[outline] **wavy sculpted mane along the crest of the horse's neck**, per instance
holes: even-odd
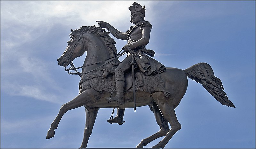
[[[95,35],[98,35],[101,37],[101,39],[107,44],[108,46],[108,52],[110,57],[116,56],[117,55],[117,50],[116,50],[116,42],[113,38],[111,38],[109,36],[109,32],[105,32],[105,29],[102,29],[100,27],[95,27],[91,26],[82,26],[80,27],[78,30],[74,30],[73,32],[75,32],[76,34],[80,34],[80,33],[92,33]],[[72,33],[70,34],[72,35]]]

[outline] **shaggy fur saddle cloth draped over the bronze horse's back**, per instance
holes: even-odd
[[[116,92],[114,70],[120,64],[118,59],[114,59],[102,67],[84,75],[79,82],[79,94],[86,89],[94,89],[96,91]],[[103,77],[103,74],[107,76]],[[132,71],[124,74],[125,87],[124,93],[132,92]],[[135,90],[154,92],[164,91],[164,82],[159,74],[145,75],[140,69],[135,69]]]

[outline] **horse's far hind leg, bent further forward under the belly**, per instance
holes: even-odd
[[[169,125],[168,122],[164,119],[163,115],[161,114],[158,106],[156,104],[153,104],[152,106],[149,106],[150,110],[154,113],[156,122],[160,127],[160,130],[155,133],[154,135],[147,137],[143,139],[139,145],[136,146],[136,148],[143,148],[143,146],[148,145],[151,141],[156,140],[159,137],[165,136],[169,132]]]

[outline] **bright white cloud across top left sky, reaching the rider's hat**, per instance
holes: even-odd
[[[95,19],[122,22],[130,17],[128,7],[132,3],[133,1],[21,1],[14,4],[5,1],[1,2],[1,21],[16,22],[32,28],[63,22],[68,25],[89,22],[96,24]],[[1,27],[8,27],[8,24],[1,23]]]

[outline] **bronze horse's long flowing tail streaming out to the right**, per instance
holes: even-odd
[[[222,83],[219,78],[214,76],[212,67],[207,63],[198,63],[184,70],[188,78],[195,80],[222,105],[234,107],[234,104],[228,100],[227,94],[223,91]]]

